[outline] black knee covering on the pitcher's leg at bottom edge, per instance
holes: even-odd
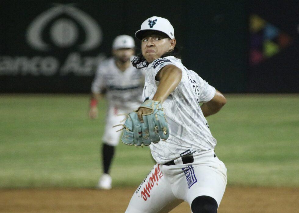
[[[193,213],[217,213],[218,204],[213,197],[198,196],[191,204]]]

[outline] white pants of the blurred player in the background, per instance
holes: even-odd
[[[121,120],[125,118],[125,116],[117,116],[118,114],[129,113],[131,110],[128,109],[119,109],[116,106],[109,106],[107,117],[106,117],[106,126],[105,132],[103,135],[103,143],[116,146],[120,140],[120,136],[122,131],[116,132],[117,130],[121,129],[122,127],[114,127],[114,125],[121,124]],[[124,123],[124,122],[122,122]]]

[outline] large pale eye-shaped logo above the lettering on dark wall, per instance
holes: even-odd
[[[54,20],[61,15],[67,15],[70,18],[61,17]],[[52,49],[51,44],[45,42],[43,38],[43,32],[49,24],[51,24],[49,37],[53,44],[59,48],[67,48],[76,44],[79,36],[78,24],[85,31],[85,40],[78,45],[78,50],[88,51],[95,49],[101,44],[103,38],[99,25],[87,13],[72,5],[57,5],[42,12],[29,25],[26,39],[32,48],[38,51],[49,51]]]

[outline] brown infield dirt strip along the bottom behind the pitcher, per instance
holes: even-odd
[[[0,212],[124,212],[135,188],[2,189]],[[228,187],[218,212],[296,212],[299,188]],[[171,211],[191,212],[183,202]]]

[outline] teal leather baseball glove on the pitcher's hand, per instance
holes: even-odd
[[[127,115],[123,126],[123,135],[121,141],[126,145],[150,145],[151,142],[158,143],[160,139],[166,140],[169,137],[169,127],[162,105],[158,101],[146,100],[139,108],[144,107],[151,109],[150,113],[142,115],[143,123],[137,116],[137,111]],[[119,126],[116,125],[116,126]]]

